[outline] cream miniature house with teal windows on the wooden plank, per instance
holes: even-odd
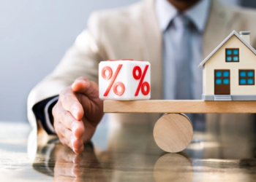
[[[203,100],[256,100],[256,51],[248,31],[233,31],[200,63]]]

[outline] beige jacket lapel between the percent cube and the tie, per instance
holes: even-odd
[[[151,99],[162,99],[162,32],[157,22],[154,0],[143,1],[143,59],[151,63]]]

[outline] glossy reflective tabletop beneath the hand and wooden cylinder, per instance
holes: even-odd
[[[256,180],[252,127],[195,132],[185,151],[167,154],[154,143],[152,126],[102,122],[76,155],[58,138],[37,137],[29,124],[0,122],[0,181]]]

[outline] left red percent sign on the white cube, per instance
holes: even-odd
[[[116,80],[116,76],[118,76],[118,73],[119,73],[119,71],[121,70],[121,67],[122,67],[122,66],[123,66],[123,65],[118,65],[118,67],[116,68],[116,72],[115,72],[115,74],[113,75],[113,77],[112,77],[113,71],[112,71],[112,69],[111,69],[109,66],[105,66],[104,68],[102,68],[102,78],[103,78],[103,79],[108,80],[108,79],[111,79],[111,77],[112,77],[112,79],[111,79],[111,81],[110,81],[110,84],[108,85],[108,88],[107,88],[107,90],[106,90],[105,93],[104,93],[104,97],[108,96],[108,93],[110,92],[110,89],[111,89],[112,86],[113,86],[113,91],[114,91],[114,93],[115,93],[116,95],[121,96],[121,95],[124,94],[125,87],[124,87],[124,84],[123,84],[122,82],[116,82],[116,83],[113,85],[113,83],[114,83],[115,80]],[[106,74],[106,71],[108,71],[108,74]],[[117,90],[118,87],[120,87],[121,90]]]

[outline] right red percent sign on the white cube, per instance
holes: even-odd
[[[137,71],[138,71],[138,74],[136,73]],[[133,78],[135,78],[137,80],[140,79],[137,90],[135,92],[135,96],[138,96],[140,89],[141,89],[141,92],[143,93],[143,95],[148,95],[148,93],[150,91],[150,86],[149,86],[148,82],[143,82],[147,71],[148,71],[148,65],[145,66],[145,69],[144,69],[142,75],[141,75],[140,66],[135,66],[133,68],[133,71],[132,71]],[[146,87],[146,90],[145,90],[145,87]]]

